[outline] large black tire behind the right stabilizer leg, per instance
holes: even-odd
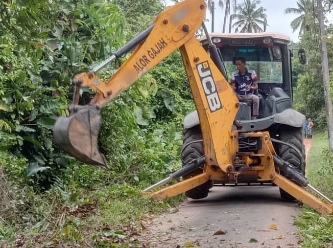
[[[283,144],[280,144],[278,147],[278,155],[281,157],[282,160],[290,163],[293,168],[300,174],[305,175],[305,147],[303,144],[302,128],[290,127],[289,129],[283,129],[280,131],[279,136],[280,141],[295,146],[302,153],[302,157],[300,157],[299,153],[295,151],[295,149]],[[282,172],[281,175],[293,181],[293,178],[283,174]],[[281,188],[280,196],[284,200],[296,200],[294,196],[290,195]]]

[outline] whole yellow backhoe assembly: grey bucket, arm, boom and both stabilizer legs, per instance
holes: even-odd
[[[229,177],[236,182],[242,173],[253,172],[258,181],[271,181],[317,211],[332,213],[332,201],[308,184],[306,178],[288,162],[276,155],[268,131],[245,132],[241,130],[240,123],[234,122],[240,103],[223,76],[221,64],[210,58],[195,37],[205,12],[204,0],[184,0],[161,12],[149,28],[90,72],[76,75],[73,79],[75,92],[73,104],[69,106],[70,115],[59,117],[56,121],[55,142],[86,164],[107,167],[105,157],[98,149],[101,108],[179,49],[200,119],[204,155],[144,192],[160,200],[191,190],[209,179]],[[98,77],[96,73],[102,67],[132,49],[134,51],[126,62],[106,82]],[[218,57],[217,54],[213,55],[215,56],[212,57]],[[87,105],[79,105],[79,89],[82,86],[88,86],[96,92]],[[232,130],[233,124],[239,130]],[[258,141],[256,152],[240,151],[240,142],[245,139]],[[203,168],[201,174],[152,191],[199,167]],[[283,177],[280,171],[291,175],[294,182]],[[305,191],[305,188],[314,191],[326,202]]]

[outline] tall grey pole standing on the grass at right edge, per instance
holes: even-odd
[[[317,0],[318,6],[318,21],[319,21],[319,36],[320,36],[320,52],[321,52],[321,64],[323,70],[323,84],[325,94],[325,107],[326,107],[326,121],[327,121],[327,135],[328,135],[328,147],[330,151],[333,151],[333,106],[332,101],[328,94],[329,88],[329,69],[327,58],[327,46],[324,36],[326,34],[324,28],[324,13],[321,0]]]

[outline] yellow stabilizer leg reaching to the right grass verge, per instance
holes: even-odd
[[[300,200],[304,204],[310,206],[321,214],[331,214],[333,213],[333,204],[326,203],[319,198],[315,197],[311,193],[307,192],[303,188],[289,181],[286,177],[275,173],[273,182],[282,188],[284,191],[288,192],[296,199]]]

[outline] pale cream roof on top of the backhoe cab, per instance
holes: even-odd
[[[272,38],[279,39],[286,43],[291,42],[291,39],[288,35],[282,33],[270,33],[270,32],[261,32],[261,33],[211,33],[209,36],[219,37],[219,38],[240,38],[240,39],[249,39],[249,38]],[[199,38],[200,41],[205,40],[206,36]]]

